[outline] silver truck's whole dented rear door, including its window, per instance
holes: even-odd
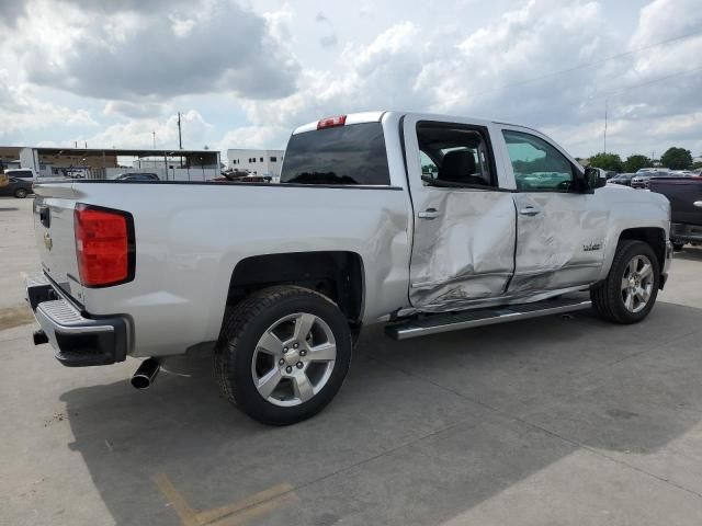
[[[408,115],[403,133],[415,222],[411,304],[445,310],[502,295],[513,272],[514,204],[500,190],[491,123]]]

